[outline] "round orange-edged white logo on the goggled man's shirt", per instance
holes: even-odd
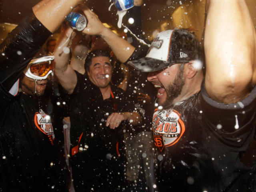
[[[51,144],[53,145],[55,135],[50,116],[47,115],[42,109],[40,109],[39,112],[36,112],[34,116],[34,122],[36,124],[36,127],[48,136]]]

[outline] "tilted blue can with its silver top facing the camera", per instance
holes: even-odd
[[[75,12],[70,12],[65,20],[70,24],[73,29],[76,29],[78,31],[84,30],[87,25],[86,17],[82,14]]]

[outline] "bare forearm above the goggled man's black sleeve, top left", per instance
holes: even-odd
[[[81,0],[44,0],[33,7],[36,18],[50,31],[54,32],[65,16]]]

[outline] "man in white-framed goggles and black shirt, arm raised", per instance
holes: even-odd
[[[0,191],[68,191],[56,127],[42,97],[54,57],[32,58],[78,3],[39,2],[0,45]]]

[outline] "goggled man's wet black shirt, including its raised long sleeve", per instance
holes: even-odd
[[[46,101],[18,91],[20,74],[50,34],[32,14],[0,45],[0,191],[66,188]]]

